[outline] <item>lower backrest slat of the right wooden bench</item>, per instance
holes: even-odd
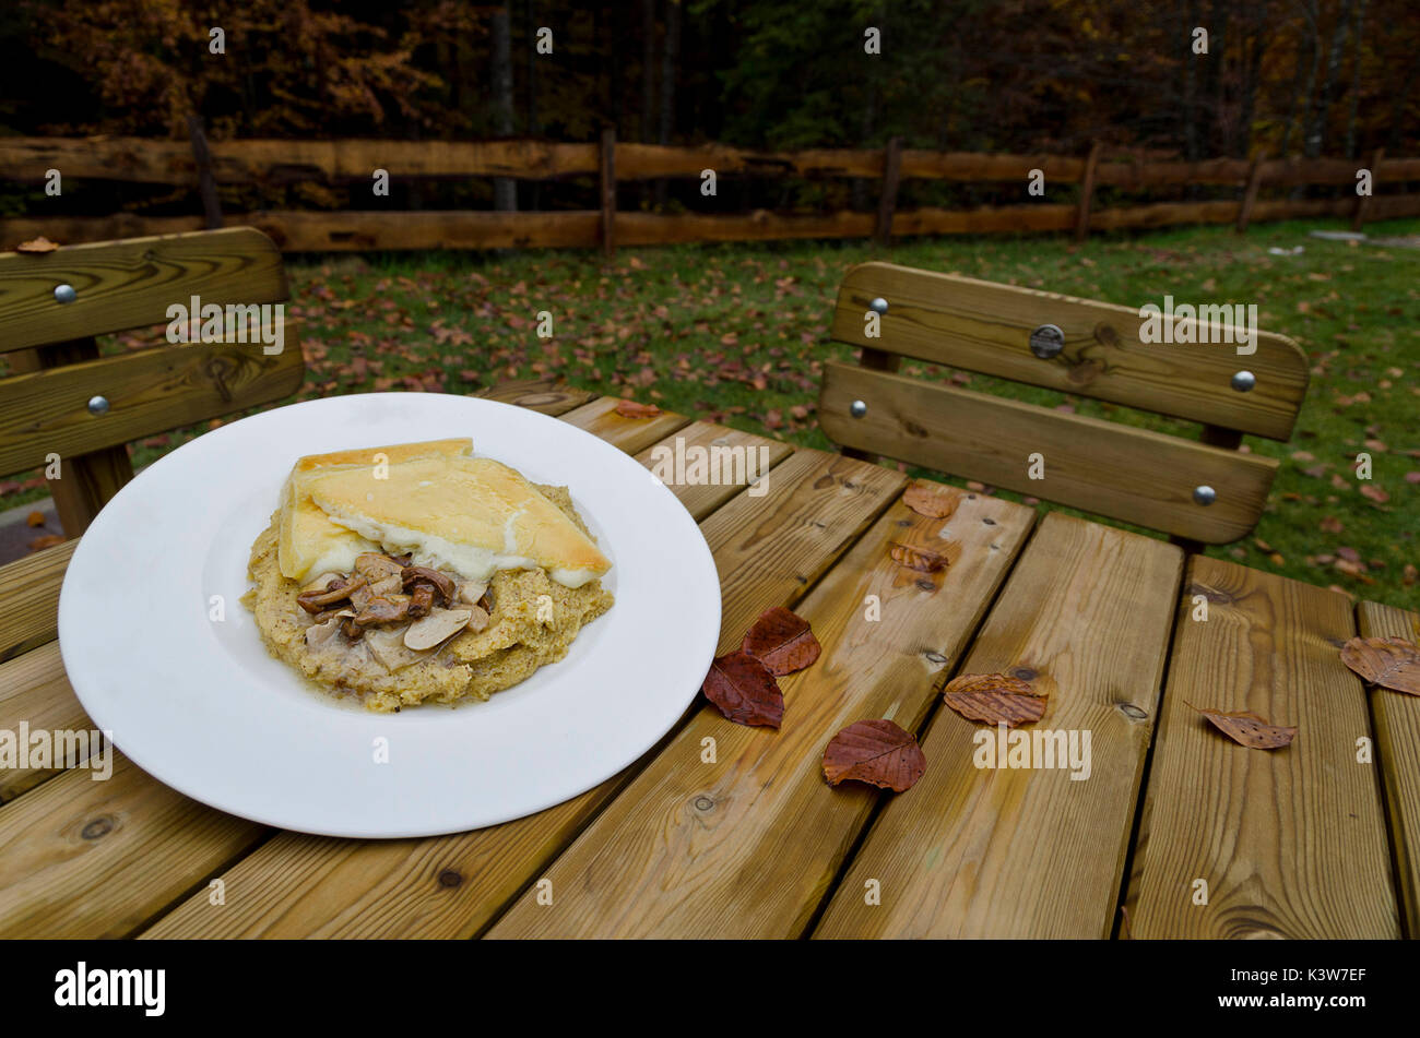
[[[852,417],[855,401],[866,404],[862,417]],[[1274,458],[838,363],[824,366],[819,425],[843,447],[1208,545],[1257,525],[1278,468]],[[1194,501],[1198,486],[1213,488],[1211,505]]]

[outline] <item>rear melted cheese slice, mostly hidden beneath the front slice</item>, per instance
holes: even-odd
[[[393,467],[413,458],[457,457],[473,454],[473,440],[430,440],[393,447],[366,447],[355,451],[311,454],[300,458],[281,488],[280,539],[277,562],[281,576],[302,580],[321,573],[349,573],[355,557],[378,552],[379,545],[354,530],[338,526],[321,510],[307,491],[307,482],[322,472],[358,472],[372,481],[379,455]]]

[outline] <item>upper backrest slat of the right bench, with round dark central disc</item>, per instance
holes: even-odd
[[[888,301],[888,312],[880,335],[869,337],[865,315],[875,298]],[[1160,295],[1140,302],[1163,306],[1164,301]],[[1238,355],[1235,343],[1143,343],[1142,323],[1139,311],[1127,306],[866,262],[843,277],[832,335],[868,349],[1240,432],[1291,437],[1309,373],[1295,342],[1257,332],[1250,355]],[[1039,325],[1064,332],[1065,347],[1049,360],[1030,349]],[[1251,391],[1231,386],[1241,370],[1255,376]]]

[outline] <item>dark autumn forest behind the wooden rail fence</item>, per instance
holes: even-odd
[[[224,54],[209,52],[213,26]],[[552,54],[537,51],[542,27]],[[868,27],[879,55],[865,52]],[[1193,52],[1197,28],[1206,55]],[[213,140],[594,140],[612,126],[650,143],[875,147],[900,136],[906,147],[1081,155],[1099,140],[1108,155],[1207,159],[1397,156],[1420,130],[1414,0],[247,0],[240,13],[16,0],[0,10],[0,68],[4,135],[186,139],[197,113]],[[589,189],[426,184],[408,201],[585,207]],[[348,204],[324,184],[283,191],[231,189],[224,201]],[[108,206],[98,194],[95,211]],[[997,200],[990,187],[919,184],[905,203]],[[129,189],[121,201],[162,211],[176,197]],[[640,204],[666,203],[662,183]],[[862,210],[876,193],[863,180],[785,177],[734,204]]]

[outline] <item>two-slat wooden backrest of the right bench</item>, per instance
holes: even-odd
[[[1173,340],[1142,342],[1145,323],[1126,306],[862,264],[843,278],[832,326],[862,359],[825,364],[819,424],[858,457],[978,479],[1183,540],[1237,540],[1257,525],[1278,462],[1235,448],[1244,432],[1291,437],[1306,356],[1255,329],[1241,345],[1255,345],[1251,353],[1238,353],[1237,342],[1198,343],[1198,320],[1163,315]],[[1218,330],[1241,337],[1231,325]],[[1184,440],[909,379],[896,373],[902,357],[1187,418],[1203,432]]]

